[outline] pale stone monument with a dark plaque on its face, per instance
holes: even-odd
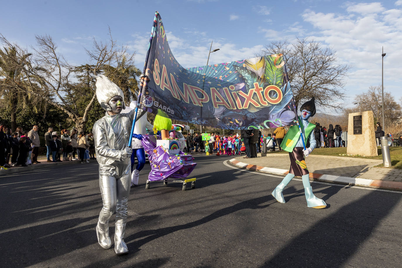
[[[377,156],[373,111],[349,114],[347,154]]]

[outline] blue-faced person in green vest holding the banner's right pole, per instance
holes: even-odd
[[[306,195],[307,206],[314,209],[323,209],[326,207],[324,200],[317,198],[313,194],[313,190],[310,186],[309,172],[307,170],[306,162],[304,158],[308,156],[314,148],[317,146],[314,139],[313,129],[316,125],[309,123],[308,119],[315,115],[316,105],[314,104],[314,97],[305,102],[300,107],[301,117],[299,117],[299,124],[302,129],[304,141],[310,137],[310,147],[304,150],[303,142],[300,137],[300,131],[298,126],[291,126],[289,131],[283,138],[281,147],[283,150],[289,152],[290,157],[290,170],[289,174],[283,178],[282,182],[273,190],[272,195],[279,203],[285,203],[283,198],[283,188],[294,178],[294,176],[301,176],[304,186],[304,194]]]

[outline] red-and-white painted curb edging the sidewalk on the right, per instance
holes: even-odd
[[[280,168],[268,168],[262,166],[256,166],[252,164],[247,164],[244,162],[240,162],[235,158],[229,160],[229,162],[242,169],[252,170],[262,173],[268,174],[280,174],[286,175],[289,173],[289,170],[284,170]],[[386,190],[399,190],[402,191],[402,182],[392,182],[388,180],[369,180],[363,178],[352,178],[352,177],[344,177],[344,176],[334,176],[328,174],[320,174],[320,173],[310,173],[309,178],[315,181],[321,182],[331,182],[336,184],[346,184],[346,185],[357,185],[357,186],[365,186],[370,188],[379,188],[379,189],[386,189]]]

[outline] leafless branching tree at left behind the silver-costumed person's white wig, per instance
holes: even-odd
[[[35,36],[36,47],[31,47],[33,55],[21,61],[21,73],[25,86],[19,86],[27,94],[33,94],[49,104],[63,110],[76,127],[82,131],[88,121],[88,112],[92,108],[96,98],[95,78],[92,75],[103,73],[116,84],[126,85],[127,97],[133,95],[131,90],[137,91],[137,80],[135,75],[139,72],[134,67],[134,55],[127,52],[127,47],[118,47],[111,36],[109,29],[109,41],[103,43],[94,39],[92,49],[86,49],[89,56],[89,64],[83,65],[81,70],[70,65],[64,56],[57,52],[57,45],[49,35]],[[0,34],[0,42],[6,46],[16,48],[19,58],[28,53],[28,49],[11,44]],[[82,67],[82,66],[80,66]],[[127,69],[131,71],[127,71]],[[134,71],[133,71],[134,70]],[[86,81],[79,79],[85,73],[88,74]],[[79,80],[77,83],[76,80]],[[129,88],[129,87],[132,88]],[[128,92],[127,92],[128,91]],[[78,105],[83,95],[90,94],[90,100]],[[129,99],[127,99],[128,101]]]

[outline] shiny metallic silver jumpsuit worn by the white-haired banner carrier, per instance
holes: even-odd
[[[130,113],[106,115],[96,121],[92,129],[95,141],[96,160],[99,163],[99,186],[103,208],[99,222],[107,224],[116,212],[116,235],[124,236],[127,221],[127,201],[131,186],[131,160],[125,148],[130,139],[130,130],[135,115]],[[120,232],[117,234],[117,232]]]

